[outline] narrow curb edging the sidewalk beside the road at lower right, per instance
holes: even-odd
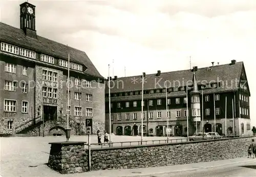
[[[183,171],[194,171],[198,169],[207,169],[207,168],[214,168],[214,167],[220,167],[220,166],[226,166],[226,165],[233,165],[233,164],[239,164],[243,162],[254,162],[255,160],[247,160],[247,161],[241,161],[241,162],[233,162],[233,163],[228,163],[228,164],[222,164],[222,165],[215,165],[215,166],[208,166],[208,167],[197,167],[197,168],[189,168],[189,169],[182,169],[182,170],[174,170],[174,171],[164,171],[164,172],[153,172],[153,173],[140,173],[140,174],[129,174],[129,175],[122,175],[119,177],[140,177],[140,176],[151,176],[155,174],[168,174],[172,172],[183,172]]]

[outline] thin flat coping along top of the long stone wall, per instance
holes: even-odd
[[[144,144],[144,145],[133,145],[133,146],[102,147],[102,148],[91,148],[91,151],[133,149],[133,148],[141,148],[141,147],[157,147],[157,146],[169,146],[169,145],[179,145],[179,144],[194,144],[194,143],[204,143],[204,142],[214,142],[214,141],[224,141],[224,140],[254,138],[254,137],[256,137],[256,136],[236,137],[236,138],[221,138],[221,139],[201,140],[201,141],[186,141],[186,142],[177,142],[177,143],[159,143],[159,144]]]

